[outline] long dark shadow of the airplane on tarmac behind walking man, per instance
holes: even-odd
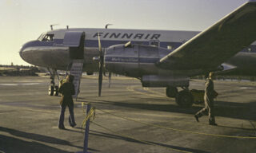
[[[164,111],[164,112],[178,112],[178,113],[186,113],[194,115],[200,109],[204,107],[204,105],[194,105],[191,108],[181,108],[177,104],[146,104],[141,101],[152,101],[152,98],[140,98],[136,100],[129,101],[108,101],[108,100],[98,100],[94,104],[112,104],[118,107],[124,108],[137,108],[144,109],[150,111]],[[158,100],[158,99],[156,99]],[[95,101],[95,100],[94,100]],[[138,103],[136,103],[138,102]],[[233,119],[240,120],[254,120],[256,121],[256,102],[250,103],[235,103],[228,101],[215,101],[214,102],[214,112],[215,116],[229,117]]]

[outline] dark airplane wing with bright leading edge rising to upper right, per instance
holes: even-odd
[[[256,0],[250,0],[163,57],[162,69],[212,69],[256,40]]]

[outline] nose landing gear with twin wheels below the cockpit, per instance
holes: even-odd
[[[58,77],[58,73],[57,73],[57,69],[52,69],[52,72],[50,71],[50,69],[48,68],[48,71],[50,72],[50,86],[48,88],[48,95],[49,96],[58,96],[58,86],[55,85],[55,76],[57,74]],[[59,77],[58,77],[59,80]]]

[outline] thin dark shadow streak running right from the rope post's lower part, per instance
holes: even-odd
[[[110,138],[110,139],[122,139],[122,140],[129,141],[129,142],[132,142],[132,143],[142,143],[142,142],[134,140],[134,139],[123,137],[121,135],[112,135],[112,134],[108,134],[108,133],[101,132],[101,131],[90,130],[90,135],[96,135],[96,136],[106,137],[106,138]],[[147,143],[154,143],[154,142],[151,142],[151,141],[146,141],[146,142]],[[147,144],[147,143],[142,143],[142,144]],[[198,149],[190,149],[190,148],[187,148],[187,147],[178,147],[178,146],[168,145],[168,144],[164,144],[164,143],[154,143],[154,144],[158,145],[158,146],[162,146],[162,147],[167,147],[167,148],[170,148],[170,149],[177,149],[177,150],[180,150],[180,151],[208,153],[208,151],[201,151],[201,150],[198,150]],[[149,145],[149,144],[147,144],[147,145]]]

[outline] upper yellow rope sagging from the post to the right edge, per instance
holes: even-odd
[[[99,111],[102,111],[102,112],[105,112],[105,113],[107,113],[107,114],[110,114],[110,115],[112,115],[112,116],[116,116],[116,117],[125,119],[125,120],[130,120],[130,121],[137,122],[137,123],[139,123],[139,124],[148,125],[148,126],[151,126],[151,127],[164,128],[164,129],[166,129],[166,130],[171,130],[171,131],[179,131],[179,132],[186,132],[186,133],[197,134],[197,135],[208,135],[208,136],[216,136],[216,137],[224,137],[224,138],[256,139],[256,136],[217,135],[217,134],[210,134],[210,133],[202,133],[202,132],[198,132],[198,131],[181,130],[181,129],[178,129],[178,128],[163,127],[163,126],[161,126],[161,125],[149,124],[149,123],[142,122],[142,121],[138,121],[138,120],[132,120],[132,119],[127,118],[127,117],[124,117],[124,116],[118,116],[118,115],[115,115],[115,114],[113,114],[113,113],[111,113],[111,112],[103,111],[102,109],[98,109],[98,110],[99,110]]]

